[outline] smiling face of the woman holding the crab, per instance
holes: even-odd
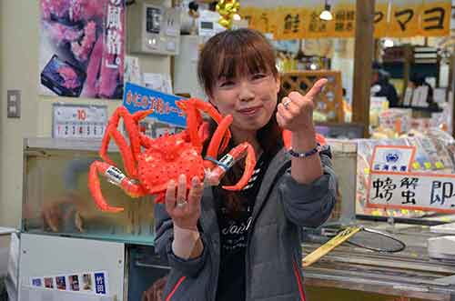
[[[231,128],[258,131],[275,111],[280,82],[272,74],[258,73],[238,78],[220,78],[210,102],[221,115],[232,115]]]

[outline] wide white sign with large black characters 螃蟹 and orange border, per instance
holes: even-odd
[[[367,206],[455,213],[455,175],[371,172]]]

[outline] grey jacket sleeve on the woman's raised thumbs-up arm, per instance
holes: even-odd
[[[337,179],[329,150],[319,154],[324,174],[310,184],[299,184],[290,168],[279,179],[278,196],[288,220],[298,226],[318,227],[330,216],[337,197]]]

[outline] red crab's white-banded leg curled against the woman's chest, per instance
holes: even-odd
[[[249,178],[253,176],[254,167],[256,166],[255,151],[253,146],[251,146],[248,142],[237,145],[226,156],[223,156],[221,160],[219,160],[218,165],[211,171],[207,172],[207,182],[210,185],[217,185],[221,177],[226,174],[227,169],[234,166],[238,160],[245,156],[245,171],[240,180],[238,180],[238,183],[233,186],[223,186],[226,190],[241,190],[248,184]]]

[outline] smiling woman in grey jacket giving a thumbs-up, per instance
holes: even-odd
[[[204,191],[195,186],[188,196],[184,179],[177,189],[167,187],[166,206],[155,207],[155,246],[172,267],[164,296],[304,300],[301,226],[325,221],[336,196],[330,153],[320,151],[312,123],[313,98],[326,81],[307,95],[291,92],[283,100],[287,105],[278,103],[274,50],[264,35],[250,29],[211,37],[200,52],[197,76],[209,102],[233,117],[227,148],[248,142],[258,161],[241,191],[223,189],[243,174],[240,165],[228,170],[219,186]],[[209,135],[215,129],[211,124]],[[283,148],[284,129],[291,136],[291,153]],[[186,206],[173,202],[176,190]]]

